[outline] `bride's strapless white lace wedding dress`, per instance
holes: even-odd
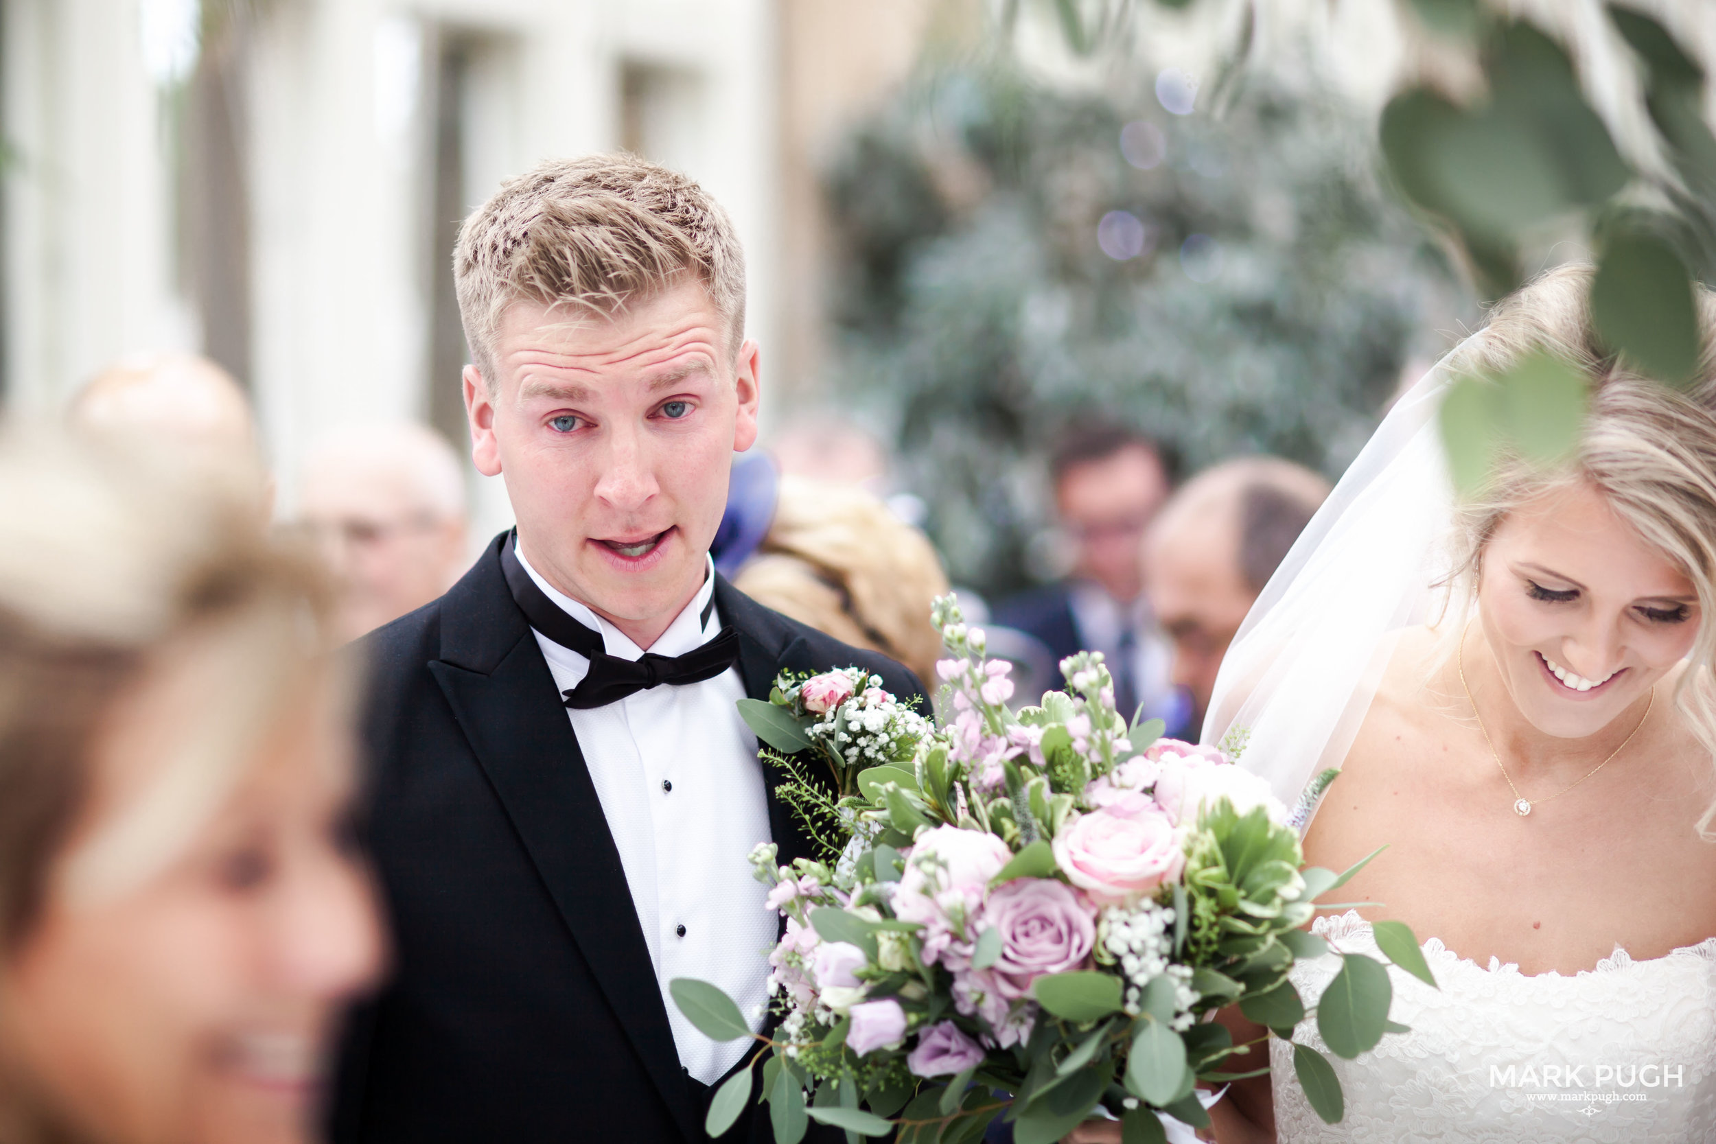
[[[1314,933],[1380,957],[1357,912],[1320,918]],[[1292,1048],[1270,1038],[1280,1144],[1716,1141],[1716,938],[1651,960],[1616,948],[1570,976],[1481,967],[1436,938],[1424,959],[1440,990],[1388,969],[1390,1015],[1412,1031],[1357,1060],[1328,1055],[1347,1101],[1340,1123],[1318,1118]],[[1337,969],[1328,954],[1292,979],[1318,996]],[[1314,1019],[1296,1039],[1326,1055]]]

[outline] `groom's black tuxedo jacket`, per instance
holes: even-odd
[[[348,1019],[333,1141],[707,1139],[712,1089],[680,1067],[602,804],[501,575],[506,540],[444,597],[362,645],[364,834],[395,969]],[[901,698],[923,695],[899,664],[793,623],[719,576],[716,605],[738,629],[753,698],[769,696],[779,671],[848,665],[880,674]],[[781,861],[808,856],[796,818],[772,780],[765,787]],[[722,1139],[770,1141],[767,1108],[752,1105]]]

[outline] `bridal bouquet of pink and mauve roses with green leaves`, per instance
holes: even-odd
[[[762,1041],[705,1129],[733,1125],[758,1058],[777,1144],[808,1120],[921,1144],[978,1141],[995,1117],[1018,1144],[1105,1113],[1129,1144],[1165,1139],[1157,1110],[1206,1125],[1199,1081],[1266,1070],[1263,1045],[1234,1045],[1210,1017],[1239,1003],[1290,1039],[1309,1010],[1287,971],[1328,948],[1301,926],[1364,863],[1301,870],[1268,786],[1222,751],[1160,739],[1158,720],[1127,726],[1100,653],[1064,660],[1067,689],[1014,712],[1009,664],[983,657],[951,597],[935,623],[946,726],[858,669],[782,676],[769,701],[741,701],[824,852],[793,866],[772,844],[752,854],[786,916],[770,1034],[709,983],[669,984],[705,1034]],[[1376,936],[1429,979],[1411,930],[1378,923]],[[1314,1014],[1350,1058],[1402,1026],[1387,969],[1342,957]],[[1294,1065],[1338,1120],[1328,1060],[1296,1045]]]

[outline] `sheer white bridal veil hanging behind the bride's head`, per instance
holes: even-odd
[[[1436,412],[1450,384],[1438,365],[1395,403],[1222,660],[1203,741],[1242,736],[1241,765],[1287,806],[1345,760],[1395,635],[1441,609],[1453,489]]]

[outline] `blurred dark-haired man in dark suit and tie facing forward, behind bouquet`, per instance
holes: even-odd
[[[1040,640],[1055,662],[1102,652],[1127,719],[1141,707],[1186,729],[1186,701],[1169,683],[1169,643],[1143,592],[1139,542],[1172,487],[1172,456],[1151,437],[1112,424],[1072,425],[1048,472],[1071,547],[1071,576],[995,605],[994,623]]]

